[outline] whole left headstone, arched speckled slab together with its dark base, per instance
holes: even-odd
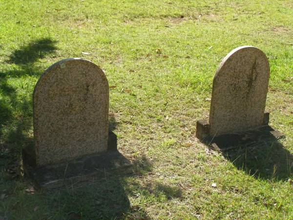
[[[23,149],[25,174],[49,189],[131,172],[108,131],[108,111],[109,86],[100,67],[79,58],[50,66],[33,93],[34,145]]]

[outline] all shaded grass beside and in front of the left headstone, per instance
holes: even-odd
[[[135,172],[128,176],[105,173],[99,180],[58,191],[24,191],[29,188],[30,180],[21,176],[21,149],[33,142],[28,135],[33,121],[32,97],[27,95],[32,93],[33,86],[25,88],[23,95],[19,92],[23,88],[10,80],[18,79],[22,83],[21,77],[41,75],[35,62],[53,53],[55,43],[51,39],[39,39],[21,47],[8,61],[17,67],[0,73],[0,192],[5,197],[0,206],[0,219],[149,219],[144,208],[130,204],[127,195],[132,188],[126,191],[126,178],[151,171],[146,156],[134,159]],[[116,126],[115,118],[110,117],[109,131]],[[158,192],[173,198],[172,189],[164,185],[157,188]]]

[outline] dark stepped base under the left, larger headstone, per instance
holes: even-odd
[[[100,179],[109,173],[111,175],[130,174],[131,162],[118,152],[117,147],[116,149],[113,147],[112,141],[109,141],[110,149],[105,153],[87,155],[42,167],[32,167],[24,162],[24,173],[33,179],[36,187],[47,190]]]

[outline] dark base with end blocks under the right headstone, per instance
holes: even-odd
[[[272,143],[273,141],[285,138],[285,135],[274,130],[268,125],[269,113],[264,115],[264,125],[244,132],[236,132],[230,134],[222,134],[211,136],[209,134],[208,120],[200,120],[196,122],[196,137],[211,148],[217,151],[228,151],[234,148],[250,148],[256,147],[264,143]]]

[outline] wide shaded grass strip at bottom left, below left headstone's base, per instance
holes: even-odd
[[[145,156],[139,156],[140,164]],[[136,163],[134,161],[134,163]],[[146,162],[148,164],[148,162]],[[151,170],[149,165],[146,170]],[[141,172],[144,168],[141,167]],[[120,174],[105,172],[98,180],[89,180],[74,184],[67,188],[54,191],[38,191],[23,193],[16,180],[6,181],[5,205],[0,208],[0,217],[7,219],[64,219],[64,220],[95,220],[95,219],[150,219],[143,207],[131,205],[128,196],[137,188],[143,188],[139,183],[129,186],[127,178],[133,178],[136,173]],[[132,181],[130,181],[132,184]],[[164,186],[167,191],[167,186]],[[146,191],[146,190],[145,190]],[[35,207],[38,207],[37,210]],[[34,211],[35,210],[35,211]]]

